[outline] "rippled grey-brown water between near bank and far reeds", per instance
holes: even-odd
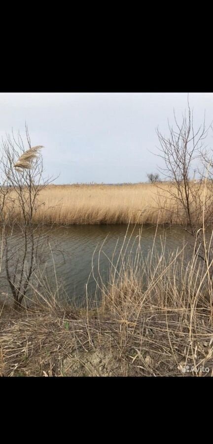
[[[134,230],[134,231],[133,231]],[[139,245],[139,232],[141,232],[141,250],[145,258],[152,249],[155,237],[155,247],[162,250],[162,243],[166,234],[166,251],[176,251],[178,246],[182,246],[183,237],[187,239],[185,232],[178,227],[156,227],[137,226],[135,229],[130,226],[127,232],[126,225],[71,225],[54,229],[51,233],[51,246],[54,251],[54,244],[58,251],[54,251],[53,257],[47,260],[42,270],[43,278],[47,277],[51,286],[56,286],[56,278],[53,267],[53,259],[58,284],[63,288],[70,299],[77,298],[80,302],[85,298],[85,285],[88,282],[88,294],[92,294],[96,289],[96,282],[91,274],[92,258],[94,276],[98,277],[98,271],[107,281],[110,262],[114,262],[118,257],[119,250],[124,242],[127,254],[134,253]],[[133,233],[133,234],[132,234]],[[102,248],[101,248],[102,247]],[[100,252],[101,249],[101,252]],[[60,251],[63,251],[64,255]],[[94,253],[95,252],[95,253]],[[99,265],[98,265],[99,264]],[[98,270],[99,267],[99,270]],[[90,278],[89,278],[90,276]],[[88,279],[89,278],[89,279]],[[1,291],[6,291],[4,271],[1,272]]]

